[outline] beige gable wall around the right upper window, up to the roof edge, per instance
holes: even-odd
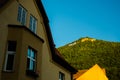
[[[29,16],[32,14],[35,18],[37,18],[37,35],[44,38],[43,32],[43,20],[41,14],[38,12],[37,5],[35,5],[35,0],[19,0],[18,1],[25,9],[27,9],[27,27],[29,26]]]

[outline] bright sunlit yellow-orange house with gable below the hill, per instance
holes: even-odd
[[[80,70],[74,75],[74,80],[108,80],[105,69],[101,69],[97,64],[89,70]]]

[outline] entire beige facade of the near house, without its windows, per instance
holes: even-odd
[[[44,17],[36,1],[9,0],[0,8],[0,80],[59,80],[59,72],[64,73],[65,80],[72,78],[70,70],[52,59]],[[17,21],[19,5],[27,11],[24,26]],[[30,15],[37,20],[36,33],[29,30]],[[12,72],[4,71],[8,41],[17,42]],[[28,76],[26,72],[29,46],[37,52],[35,73],[38,77]]]

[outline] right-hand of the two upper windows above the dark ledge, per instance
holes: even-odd
[[[29,23],[29,28],[32,32],[36,33],[36,28],[37,28],[37,20],[35,17],[30,15],[30,23]]]

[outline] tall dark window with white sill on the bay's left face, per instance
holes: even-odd
[[[4,71],[12,71],[13,70],[15,53],[16,53],[16,42],[8,41]]]

